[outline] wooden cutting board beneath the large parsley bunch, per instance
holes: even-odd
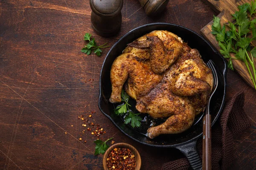
[[[243,3],[250,3],[250,0],[202,0],[208,6],[210,6],[214,11],[219,12],[218,17],[221,19],[221,26],[223,24],[228,24],[228,21],[234,22],[231,14],[234,14],[235,11],[238,11],[237,6],[242,5]],[[212,43],[218,50],[220,50],[218,46],[218,42],[215,39],[215,36],[211,34],[212,31],[212,21],[208,23],[204,28],[201,29],[201,34]],[[254,43],[255,46],[256,43]],[[231,55],[232,56],[232,55]],[[253,82],[250,78],[250,74],[247,71],[247,68],[244,62],[241,62],[236,59],[232,59],[234,69],[240,74],[240,76],[254,88]],[[254,60],[254,65],[256,67],[256,59]],[[252,68],[251,68],[252,72]],[[253,74],[253,72],[252,72]]]

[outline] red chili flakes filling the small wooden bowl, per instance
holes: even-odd
[[[114,148],[107,157],[107,166],[110,170],[135,170],[136,159],[127,148]]]

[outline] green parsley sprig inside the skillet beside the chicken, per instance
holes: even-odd
[[[125,91],[122,89],[122,94],[121,94],[121,97],[122,97],[122,102],[124,102],[122,105],[119,105],[116,107],[116,109],[114,110],[115,113],[117,115],[123,115],[123,114],[126,114],[125,115],[125,124],[128,124],[128,123],[131,123],[131,127],[140,127],[141,125],[141,117],[138,116],[140,115],[140,113],[133,113],[130,109],[129,109],[129,105],[128,104],[128,101],[129,101],[129,98],[130,96],[125,93]]]

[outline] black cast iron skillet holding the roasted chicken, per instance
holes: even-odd
[[[199,50],[204,62],[208,62],[209,59],[212,59],[212,61],[215,63],[219,84],[217,91],[212,97],[212,102],[210,105],[210,114],[212,115],[212,125],[216,122],[223,108],[226,94],[227,65],[225,59],[201,35],[195,33],[194,31],[188,28],[184,28],[182,26],[169,23],[151,23],[137,27],[129,31],[124,36],[122,36],[113,45],[113,47],[110,49],[103,62],[102,70],[100,73],[99,109],[105,116],[107,116],[113,122],[114,125],[116,125],[116,127],[119,128],[119,130],[122,131],[122,133],[124,133],[131,139],[134,139],[135,141],[140,142],[141,144],[153,147],[177,148],[188,158],[193,169],[201,169],[202,164],[201,159],[198,153],[196,152],[196,142],[203,132],[201,118],[204,116],[204,113],[198,115],[192,127],[190,127],[189,130],[186,130],[183,133],[175,135],[160,135],[155,139],[149,139],[145,136],[144,133],[146,133],[146,129],[148,128],[147,126],[149,126],[150,124],[150,118],[148,119],[148,121],[143,122],[142,127],[146,126],[145,128],[132,128],[131,126],[125,125],[123,123],[122,117],[116,116],[113,113],[113,109],[116,107],[116,105],[113,105],[110,102],[108,102],[108,99],[111,95],[110,70],[114,59],[116,59],[116,57],[122,54],[122,51],[125,49],[128,43],[136,40],[138,37],[141,37],[144,34],[147,34],[153,30],[167,30],[174,34],[177,34],[184,40],[184,42],[187,42],[191,48],[196,48]],[[136,102],[131,102],[131,110],[136,111]],[[143,119],[144,117],[148,118],[148,116],[145,115],[147,114],[141,114]]]

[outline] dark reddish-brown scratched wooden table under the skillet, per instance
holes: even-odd
[[[86,128],[78,119],[91,111],[96,112],[91,121],[106,131],[103,139],[114,137],[116,143],[127,142],[139,150],[142,170],[160,169],[170,161],[170,154],[182,156],[174,149],[131,140],[99,111],[99,73],[109,48],[101,57],[82,54],[83,35],[90,32],[96,42],[113,45],[131,29],[154,22],[199,32],[216,13],[200,0],[170,0],[160,17],[150,18],[137,0],[124,0],[121,31],[111,38],[93,32],[90,13],[89,0],[1,0],[1,170],[102,169],[102,155],[93,155],[96,137],[82,133]],[[253,126],[236,139],[232,168],[252,170],[256,167],[256,91],[229,70],[227,99],[240,89],[245,89],[244,110]]]

